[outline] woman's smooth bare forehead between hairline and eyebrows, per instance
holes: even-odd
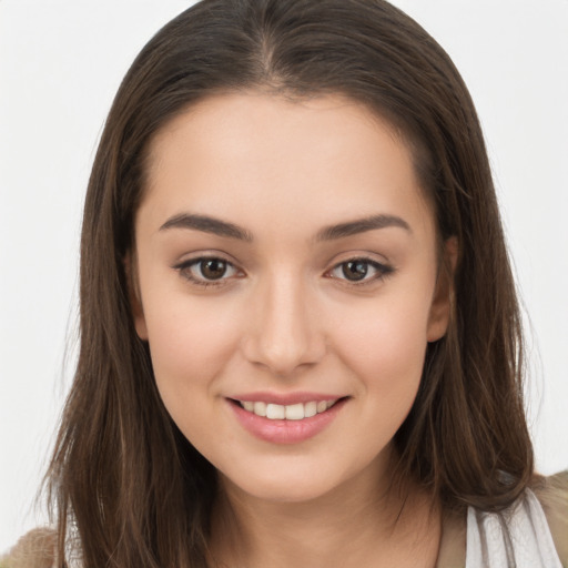
[[[338,95],[205,99],[154,136],[146,173],[142,209],[156,217],[189,209],[254,225],[262,214],[278,227],[404,210],[432,222],[402,138]]]

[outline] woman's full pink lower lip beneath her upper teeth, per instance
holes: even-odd
[[[237,420],[253,436],[272,444],[300,444],[324,430],[339,414],[346,402],[346,398],[342,398],[324,413],[302,420],[271,420],[245,410],[232,400],[230,405]]]

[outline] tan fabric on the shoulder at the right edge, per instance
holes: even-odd
[[[545,511],[560,561],[568,567],[568,470],[539,478],[532,490]]]

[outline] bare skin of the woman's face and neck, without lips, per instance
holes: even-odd
[[[183,214],[248,239],[178,226]],[[402,223],[322,239],[369,215]],[[450,285],[432,207],[388,124],[341,97],[206,99],[151,144],[135,243],[138,334],[172,418],[220,473],[214,557],[434,566],[438,508],[412,484],[403,508],[388,479],[427,343],[446,332]],[[222,277],[206,281],[204,256],[227,263]],[[344,271],[354,258],[363,281]],[[317,435],[273,444],[230,402],[258,390],[346,402]]]

